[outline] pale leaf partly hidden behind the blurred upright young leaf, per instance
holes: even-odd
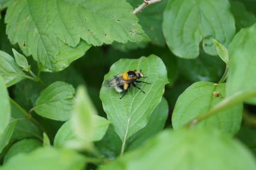
[[[93,133],[90,138],[92,141],[97,141],[100,140],[106,133],[110,121],[98,115],[93,115],[93,119]],[[58,147],[64,144],[64,142],[67,142],[68,140],[74,140],[76,138],[77,137],[71,127],[70,121],[66,121],[56,133],[53,145]]]

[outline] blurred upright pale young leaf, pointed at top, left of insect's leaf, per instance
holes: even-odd
[[[94,133],[95,120],[93,115],[97,115],[85,86],[78,86],[76,90],[76,102],[73,105],[70,118],[71,127],[78,139],[84,143],[90,143]]]

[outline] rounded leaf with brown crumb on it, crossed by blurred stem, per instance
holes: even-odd
[[[213,92],[219,92],[222,98],[220,96],[214,97]],[[179,96],[176,102],[172,113],[173,128],[182,127],[182,125],[210,110],[225,98],[225,83],[214,85],[212,82],[199,81],[192,84]],[[240,128],[242,111],[243,104],[238,103],[203,119],[198,123],[198,126],[218,128],[234,136]]]

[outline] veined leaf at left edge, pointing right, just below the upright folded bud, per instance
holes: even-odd
[[[14,85],[28,77],[18,66],[12,56],[0,50],[0,75],[4,78],[7,87]]]

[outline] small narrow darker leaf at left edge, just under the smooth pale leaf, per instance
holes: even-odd
[[[4,129],[4,134],[0,136],[0,153],[4,149],[4,147],[9,143],[9,140],[12,136],[12,132],[14,130],[15,124],[17,121],[10,121],[8,126]]]

